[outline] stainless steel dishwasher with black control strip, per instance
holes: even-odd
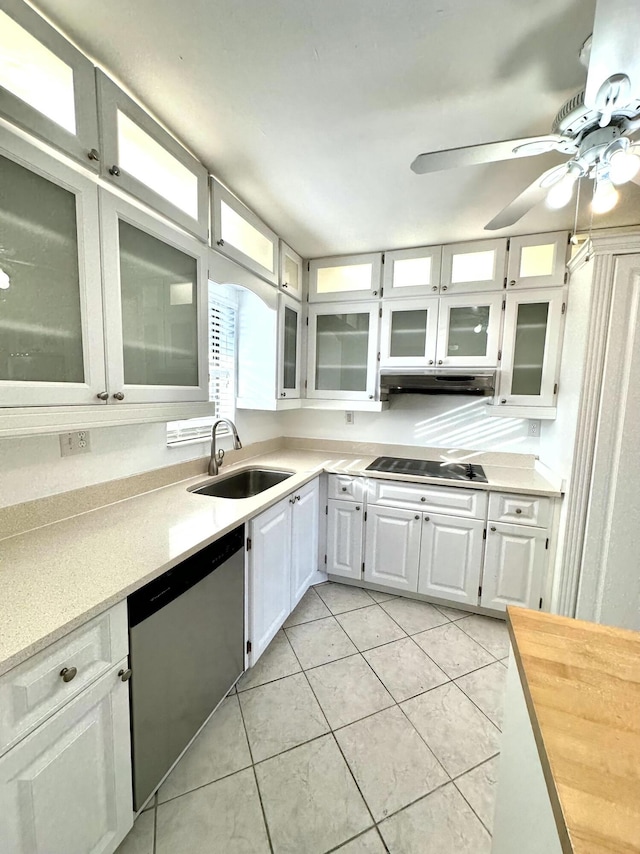
[[[138,810],[244,669],[244,528],[137,590],[128,610]]]

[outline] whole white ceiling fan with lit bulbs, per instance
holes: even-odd
[[[421,175],[558,151],[569,159],[540,175],[485,229],[513,225],[543,199],[564,207],[580,178],[595,181],[593,212],[611,210],[617,185],[640,184],[640,144],[633,143],[640,131],[639,45],[638,0],[597,0],[593,34],[580,51],[586,86],[563,105],[550,134],[419,154],[412,170]]]

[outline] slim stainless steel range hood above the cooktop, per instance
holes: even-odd
[[[491,395],[495,387],[495,371],[478,371],[473,368],[468,371],[383,368],[380,371],[381,391],[389,394]]]

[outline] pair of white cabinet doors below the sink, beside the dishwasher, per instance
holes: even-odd
[[[249,664],[253,666],[318,569],[318,478],[249,522]]]

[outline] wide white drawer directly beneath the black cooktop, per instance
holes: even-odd
[[[426,483],[371,478],[369,503],[447,513],[468,519],[484,519],[487,512],[487,493],[455,486],[432,486]]]

